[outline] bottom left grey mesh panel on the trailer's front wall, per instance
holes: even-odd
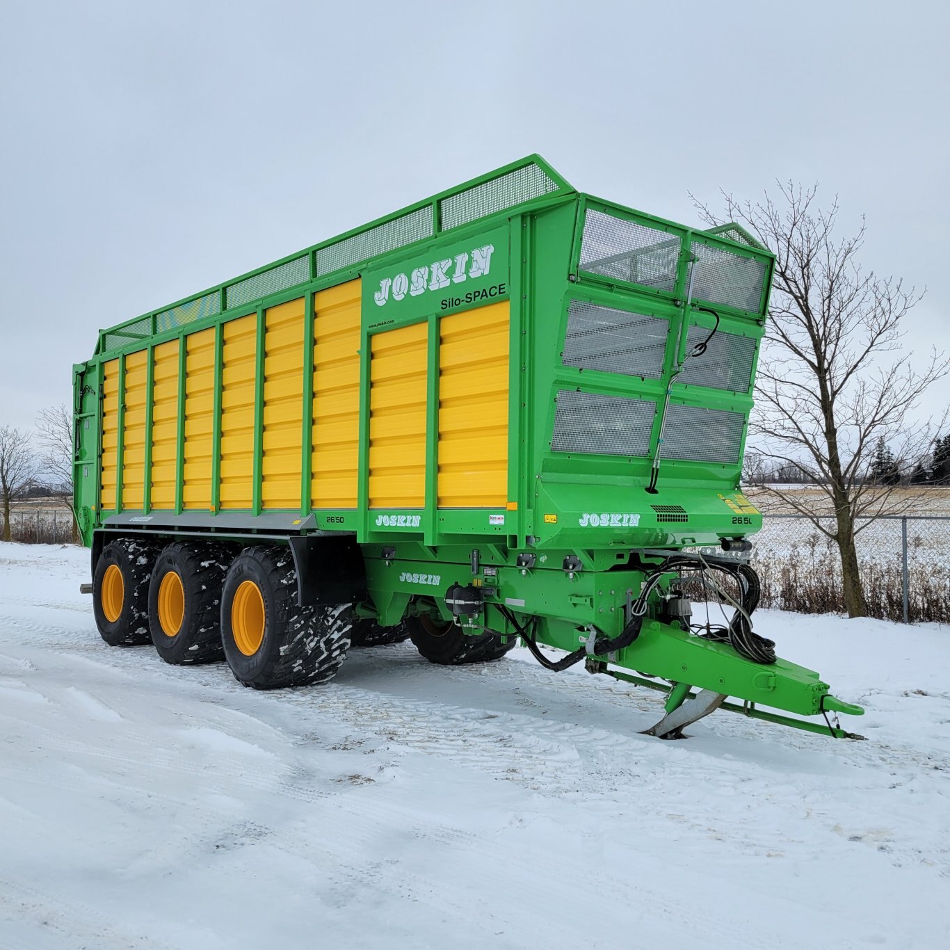
[[[646,455],[656,403],[561,390],[554,414],[555,452]]]

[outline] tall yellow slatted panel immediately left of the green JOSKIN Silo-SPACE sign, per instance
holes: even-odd
[[[359,459],[360,281],[314,295],[314,508],[355,508]]]

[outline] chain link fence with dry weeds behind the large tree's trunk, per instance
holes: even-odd
[[[834,520],[820,519],[829,531]],[[858,566],[869,616],[950,623],[950,517],[883,516],[857,522]],[[835,542],[803,515],[766,515],[752,536],[751,565],[763,607],[844,613]]]

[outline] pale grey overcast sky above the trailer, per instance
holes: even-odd
[[[817,180],[950,349],[946,0],[0,4],[0,425],[100,327],[536,151],[684,223]]]

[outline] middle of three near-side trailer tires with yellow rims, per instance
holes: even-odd
[[[224,659],[221,590],[233,560],[220,544],[173,542],[161,549],[148,587],[148,626],[166,663]]]

